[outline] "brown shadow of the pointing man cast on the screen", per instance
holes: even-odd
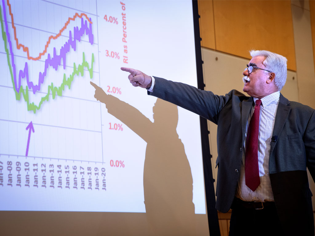
[[[94,97],[106,104],[108,113],[147,143],[143,188],[149,234],[195,235],[192,173],[176,132],[177,106],[158,98],[152,122],[133,106],[91,84]]]

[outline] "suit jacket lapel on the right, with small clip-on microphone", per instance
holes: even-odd
[[[280,136],[284,123],[287,120],[289,112],[291,110],[291,107],[288,104],[290,104],[289,100],[287,98],[284,98],[284,96],[280,93],[280,100],[276,113],[275,124],[273,126],[272,136]],[[277,141],[270,143],[270,156],[276,144]]]

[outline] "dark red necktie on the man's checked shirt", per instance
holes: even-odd
[[[258,133],[261,100],[256,100],[254,114],[250,119],[245,151],[245,183],[253,192],[260,185],[258,168]]]

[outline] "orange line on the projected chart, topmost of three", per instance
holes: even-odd
[[[89,23],[92,24],[92,21],[89,19],[89,17],[85,14],[85,13],[81,13],[80,15],[78,13],[76,13],[73,17],[69,17],[68,20],[66,21],[66,24],[62,27],[62,29],[59,31],[59,33],[55,36],[51,35],[49,36],[48,38],[48,41],[45,45],[45,49],[42,53],[39,53],[39,56],[38,57],[31,57],[30,56],[30,53],[29,53],[29,50],[28,50],[28,47],[24,46],[23,44],[19,43],[19,40],[18,38],[16,37],[16,28],[14,26],[14,20],[13,20],[13,14],[11,12],[11,4],[9,3],[9,0],[7,0],[7,4],[8,4],[8,7],[9,7],[9,13],[11,15],[11,21],[12,21],[12,28],[13,28],[13,31],[14,31],[14,39],[16,41],[16,48],[17,49],[20,49],[21,47],[23,48],[23,51],[27,53],[27,59],[29,60],[34,60],[34,61],[37,61],[39,59],[41,59],[41,57],[43,55],[45,55],[45,53],[47,52],[47,48],[48,48],[48,45],[50,44],[50,41],[51,39],[57,39],[58,37],[61,36],[61,33],[67,28],[67,26],[69,25],[70,23],[70,20],[75,20],[77,17],[79,18],[82,18],[83,16],[85,16],[85,18],[89,21]]]

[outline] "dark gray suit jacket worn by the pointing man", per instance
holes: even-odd
[[[232,90],[225,96],[155,77],[152,93],[218,125],[216,208],[227,212],[238,185],[246,122],[253,98]],[[314,235],[312,193],[306,166],[315,177],[315,112],[280,94],[271,142],[269,175],[280,221],[289,234]],[[303,229],[301,231],[301,229]]]

